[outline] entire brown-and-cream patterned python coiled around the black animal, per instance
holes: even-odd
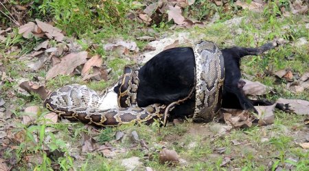
[[[102,109],[102,99],[86,86],[64,86],[52,92],[44,101],[44,106],[58,116],[69,120],[79,120],[86,124],[107,127],[119,124],[163,120],[174,106],[191,98],[195,92],[196,105],[193,115],[195,121],[210,121],[221,106],[222,86],[225,76],[221,51],[212,42],[201,41],[192,46],[196,62],[196,83],[190,94],[170,105],[153,104],[148,107],[137,106],[139,86],[138,66],[125,66],[124,75],[118,81],[117,103],[119,108]],[[108,91],[106,91],[108,92]]]

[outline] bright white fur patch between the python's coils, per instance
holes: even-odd
[[[115,86],[117,86],[117,84]],[[117,93],[114,92],[115,86],[113,86],[113,88],[108,89],[106,94],[102,96],[99,109],[102,109],[102,110],[119,109],[118,103],[117,103]]]

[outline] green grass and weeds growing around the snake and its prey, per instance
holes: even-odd
[[[228,1],[226,6],[216,5],[210,1],[196,0],[193,5],[183,8],[185,18],[194,18],[198,21],[211,21],[218,14],[219,19],[207,27],[192,27],[190,29],[169,29],[174,25],[168,21],[166,14],[162,19],[151,23],[130,20],[129,15],[138,16],[146,8],[144,1],[126,0],[11,0],[5,3],[8,9],[14,5],[25,7],[22,10],[24,22],[52,21],[56,27],[62,29],[67,36],[76,38],[76,42],[83,50],[91,55],[101,55],[108,68],[112,69],[111,79],[108,81],[82,81],[80,75],[58,76],[45,83],[47,90],[55,90],[69,83],[87,84],[93,90],[104,88],[115,82],[122,74],[126,64],[133,64],[128,57],[119,57],[119,54],[104,51],[104,44],[116,38],[137,42],[139,49],[146,47],[146,42],[137,40],[139,36],[154,36],[163,38],[178,32],[187,31],[191,38],[203,34],[205,40],[216,42],[220,47],[233,45],[243,47],[257,47],[274,38],[282,39],[287,43],[257,57],[245,57],[242,60],[242,72],[253,77],[253,81],[260,81],[271,86],[277,92],[266,97],[275,101],[279,97],[298,98],[309,101],[309,92],[301,93],[286,91],[284,79],[276,79],[266,74],[266,70],[274,73],[277,70],[289,68],[295,75],[301,76],[309,71],[308,42],[303,46],[295,46],[300,38],[309,40],[309,31],[306,27],[307,15],[284,16],[282,8],[290,10],[288,0],[269,1],[261,13],[243,10]],[[251,1],[247,1],[251,3]],[[147,4],[148,5],[148,4]],[[1,7],[1,6],[0,6]],[[4,11],[10,15],[9,11]],[[10,11],[12,12],[12,11]],[[14,14],[16,15],[16,14]],[[240,24],[225,23],[231,18],[241,18]],[[27,63],[21,60],[25,54],[44,40],[32,38],[25,40],[18,34],[14,22],[0,13],[1,29],[12,26],[12,35],[0,44],[0,67],[6,77],[1,78],[0,97],[6,103],[16,105],[16,108],[7,106],[12,111],[13,118],[5,122],[16,123],[16,118],[22,118],[23,109],[29,105],[42,106],[42,99],[38,94],[25,96],[18,91],[18,81],[29,79],[32,81],[45,78],[47,68],[38,71],[27,69]],[[308,25],[308,23],[307,23]],[[151,29],[152,31],[142,31]],[[89,40],[88,43],[87,41]],[[55,45],[57,42],[52,42]],[[96,47],[93,47],[95,44]],[[141,50],[142,51],[142,50]],[[128,56],[132,57],[133,52]],[[136,57],[136,56],[135,56]],[[5,68],[2,70],[2,67]],[[269,73],[269,72],[268,72]],[[14,94],[12,94],[12,92]],[[7,104],[6,104],[7,105]],[[232,129],[224,135],[217,135],[211,130],[210,124],[194,124],[190,119],[176,125],[159,127],[159,123],[147,126],[123,125],[121,127],[99,129],[93,131],[84,124],[76,122],[57,122],[50,124],[44,116],[47,109],[41,107],[36,116],[35,124],[24,125],[19,122],[10,129],[8,148],[0,148],[1,157],[12,167],[12,170],[125,170],[121,159],[139,157],[145,167],[153,170],[275,170],[288,164],[295,166],[295,170],[307,170],[309,152],[295,142],[304,141],[308,128],[304,125],[306,116],[287,114],[275,111],[275,123],[266,127],[251,127],[247,129]],[[0,122],[2,128],[2,122]],[[148,149],[135,142],[132,138],[115,141],[115,133],[123,131],[126,135],[137,131],[140,140],[144,140]],[[295,134],[295,132],[299,134]],[[94,137],[100,145],[112,146],[115,149],[125,148],[113,157],[106,157],[102,151],[79,153],[82,135]],[[9,136],[9,135],[8,135]],[[235,144],[239,142],[240,144]],[[181,159],[187,163],[176,166],[159,163],[159,151],[163,146],[174,149]],[[225,148],[218,153],[216,149]],[[97,150],[97,149],[96,149]],[[114,149],[113,149],[114,150]],[[111,150],[111,151],[113,151]],[[78,151],[78,153],[76,153]],[[231,161],[225,163],[227,158]],[[293,159],[297,159],[296,161]],[[31,161],[31,162],[30,162]],[[31,164],[28,164],[28,163]],[[1,164],[1,163],[0,163]],[[16,169],[18,168],[18,169]]]

